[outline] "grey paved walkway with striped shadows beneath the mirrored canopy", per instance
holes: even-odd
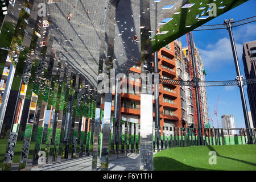
[[[98,158],[97,164],[98,170],[100,170],[100,160]],[[66,160],[60,163],[46,164],[42,168],[32,168],[32,171],[91,171],[92,170],[92,156],[86,156],[83,158]],[[109,158],[109,170],[110,171],[139,171],[139,155],[128,154],[119,155],[117,159],[116,155],[110,155]]]

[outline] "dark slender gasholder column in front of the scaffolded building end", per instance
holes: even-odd
[[[196,71],[196,59],[195,59],[195,49],[194,49],[194,44],[193,44],[193,38],[192,38],[192,32],[189,32],[189,39],[190,39],[190,47],[191,47],[191,61],[192,61],[192,67],[193,67],[193,80],[195,82],[195,92],[196,92],[196,110],[197,110],[197,123],[199,127],[199,141],[200,145],[203,145],[203,135],[201,133],[201,108],[200,108],[200,102],[199,102],[199,77],[197,77],[197,71]]]

